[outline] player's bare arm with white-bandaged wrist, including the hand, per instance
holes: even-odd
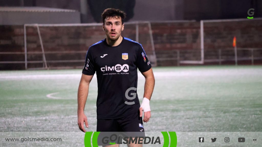
[[[145,87],[144,87],[144,98],[143,102],[139,108],[140,117],[142,117],[142,110],[144,110],[144,122],[148,122],[151,117],[151,110],[149,106],[149,101],[151,99],[154,86],[155,86],[155,77],[153,74],[152,68],[146,72],[142,72],[142,75],[145,77]]]

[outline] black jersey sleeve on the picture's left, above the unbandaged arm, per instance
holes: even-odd
[[[94,59],[91,53],[91,49],[89,48],[86,53],[86,59],[85,59],[85,66],[83,68],[82,73],[85,75],[94,75],[95,74],[95,67],[94,67]]]

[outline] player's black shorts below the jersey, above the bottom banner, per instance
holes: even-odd
[[[145,132],[138,112],[116,119],[97,119],[97,132]]]

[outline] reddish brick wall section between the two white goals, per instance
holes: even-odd
[[[199,22],[155,22],[151,23],[156,57],[177,58],[180,60],[200,60],[200,23]],[[166,57],[166,54],[169,54]],[[157,65],[177,65],[178,60],[157,60]]]

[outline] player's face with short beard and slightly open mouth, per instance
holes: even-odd
[[[103,24],[103,30],[106,31],[106,38],[113,41],[117,40],[121,32],[124,30],[124,24],[122,24],[121,18],[110,18],[105,19],[105,24]]]

